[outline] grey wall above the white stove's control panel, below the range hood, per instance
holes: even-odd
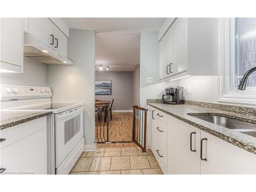
[[[1,73],[1,83],[46,86],[46,65],[24,57],[24,72]]]

